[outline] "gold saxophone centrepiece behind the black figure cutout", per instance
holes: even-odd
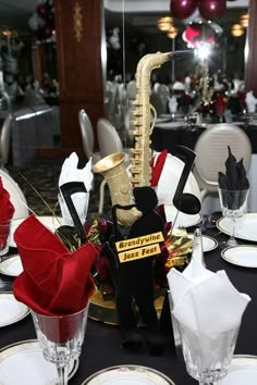
[[[164,62],[176,57],[182,57],[184,53],[192,51],[176,51],[176,52],[157,52],[149,53],[143,57],[136,69],[136,99],[133,104],[135,120],[133,124],[135,129],[133,132],[135,138],[134,149],[131,149],[131,169],[128,177],[124,165],[124,153],[113,153],[93,166],[95,173],[101,173],[109,186],[112,206],[121,204],[127,206],[133,203],[132,186],[149,186],[151,179],[151,141],[150,134],[151,111],[156,117],[156,111],[150,105],[150,74],[155,69],[159,69]],[[136,209],[131,211],[118,210],[117,216],[123,226],[130,226],[140,215]]]

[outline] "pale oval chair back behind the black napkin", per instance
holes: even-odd
[[[237,161],[244,159],[246,172],[249,169],[252,145],[245,132],[233,124],[216,124],[199,136],[194,149],[196,152],[194,175],[200,189],[218,190],[218,172],[225,171],[228,146]]]

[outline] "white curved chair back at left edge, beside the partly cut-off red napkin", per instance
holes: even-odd
[[[0,170],[0,177],[2,179],[3,187],[10,194],[10,200],[15,209],[12,219],[16,220],[27,218],[29,214],[27,201],[17,183],[3,170]]]

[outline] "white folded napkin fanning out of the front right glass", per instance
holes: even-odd
[[[240,325],[250,297],[232,285],[224,271],[212,273],[193,259],[183,273],[168,273],[173,310],[179,322],[205,334],[227,332]]]

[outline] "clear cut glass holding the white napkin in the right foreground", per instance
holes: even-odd
[[[233,357],[240,324],[227,332],[206,334],[179,322],[179,330],[187,373],[199,385],[211,385],[223,378]]]

